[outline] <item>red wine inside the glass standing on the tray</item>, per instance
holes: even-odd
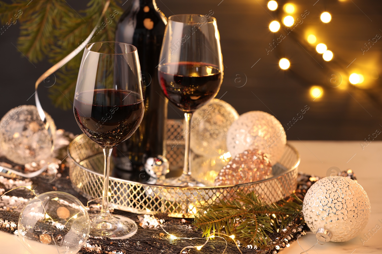
[[[184,112],[194,112],[214,98],[222,75],[217,66],[203,62],[163,64],[158,73],[165,96]]]

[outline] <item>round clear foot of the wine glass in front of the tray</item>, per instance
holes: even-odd
[[[125,239],[133,236],[138,226],[134,220],[120,215],[110,215],[111,219],[100,219],[99,214],[89,215],[91,236],[107,236],[111,239]]]

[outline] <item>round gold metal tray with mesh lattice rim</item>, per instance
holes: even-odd
[[[184,147],[171,149],[173,137],[182,131],[180,120],[167,121],[167,154],[171,165],[183,164]],[[102,149],[84,134],[76,137],[69,145],[70,179],[73,188],[86,198],[102,196],[103,163]],[[176,187],[143,184],[110,177],[111,203],[116,209],[138,214],[159,214],[169,217],[192,218],[199,207],[217,200],[228,200],[236,192],[255,192],[261,200],[269,203],[289,196],[297,186],[300,156],[297,150],[286,144],[285,152],[272,168],[272,176],[261,181],[212,187]],[[148,212],[148,210],[150,212]]]

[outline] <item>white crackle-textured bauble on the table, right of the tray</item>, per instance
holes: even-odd
[[[370,201],[365,190],[347,177],[325,177],[314,183],[305,195],[303,214],[316,233],[324,228],[330,241],[344,242],[356,237],[370,217]]]

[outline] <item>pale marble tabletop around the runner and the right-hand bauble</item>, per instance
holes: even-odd
[[[359,236],[346,243],[317,244],[308,252],[310,254],[382,253],[382,142],[372,141],[363,149],[357,141],[290,141],[290,143],[301,154],[299,171],[325,176],[332,166],[341,170],[351,168],[359,184],[366,190],[371,203],[369,223]],[[377,224],[380,228],[376,227]],[[363,236],[365,233],[369,235],[369,239]],[[308,234],[300,238],[299,242],[304,249],[309,249],[316,243],[316,237]],[[0,244],[0,253],[29,254],[19,243],[18,237],[9,233],[0,232]],[[297,242],[293,242],[289,248],[280,253],[301,252],[302,249]]]

